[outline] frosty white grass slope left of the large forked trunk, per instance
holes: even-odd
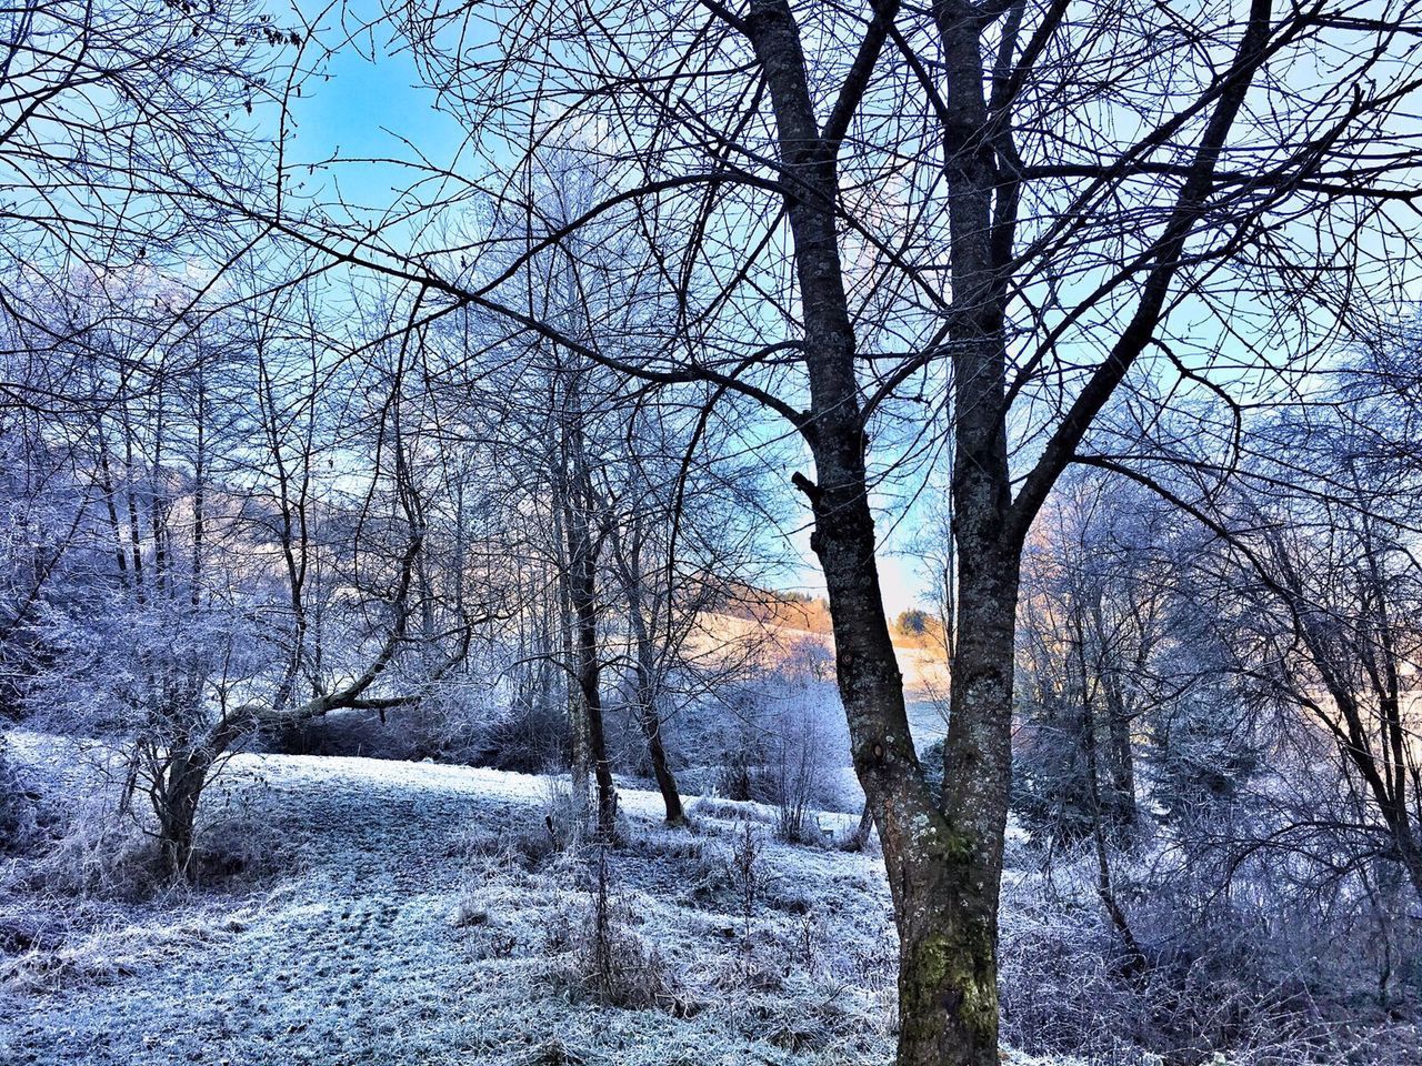
[[[11,746],[47,789],[85,792],[55,742]],[[590,988],[599,861],[559,847],[562,800],[493,770],[239,756],[205,800],[230,867],[209,860],[208,887],[119,903],[10,871],[0,1062],[890,1059],[876,856],[781,843],[754,804],[704,800],[693,831],[665,829],[654,795],[624,789],[609,912],[614,961],[643,972],[617,1008]]]

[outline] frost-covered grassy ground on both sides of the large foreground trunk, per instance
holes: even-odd
[[[0,1066],[892,1062],[883,863],[833,847],[853,814],[786,844],[774,807],[687,797],[694,829],[673,830],[656,793],[624,789],[599,849],[566,779],[242,755],[205,799],[198,884],[172,890],[114,817],[101,746],[13,735],[9,752],[44,796],[21,822],[50,841],[0,850]],[[1017,1046],[1112,1066],[1419,1062],[1408,1018],[1303,1009],[1290,974],[1276,994],[1224,972],[1237,949],[1182,969],[1153,948],[1149,981],[1122,975],[1091,856],[1045,876],[1014,829],[1008,866]],[[1130,905],[1148,942],[1176,942],[1169,898]]]

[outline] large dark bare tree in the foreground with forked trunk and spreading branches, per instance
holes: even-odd
[[[1402,226],[1386,205],[1415,196],[1395,118],[1416,80],[1415,6],[707,0],[398,18],[471,136],[600,161],[611,190],[520,262],[616,225],[626,267],[667,294],[661,343],[619,350],[627,323],[589,337],[530,313],[509,298],[518,263],[459,270],[385,235],[256,213],[402,279],[431,314],[478,307],[641,382],[754,401],[801,435],[815,470],[795,483],[890,870],[899,1057],[994,1062],[1022,544],[1113,398],[1237,381],[1212,377],[1217,345],[1264,370],[1304,358],[1359,298],[1340,252],[1386,264],[1392,247],[1364,235]],[[1322,53],[1338,57],[1327,72]],[[512,195],[498,178],[486,193]],[[1243,298],[1258,313],[1234,316]],[[1206,337],[1202,320],[1229,324]],[[870,496],[903,458],[896,426],[923,425],[920,399],[953,426],[941,795],[910,738]]]

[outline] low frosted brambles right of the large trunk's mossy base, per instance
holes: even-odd
[[[1243,876],[1219,893],[1212,871],[1170,868],[1160,854],[1115,861],[1143,965],[1096,898],[1089,849],[1059,854],[1049,876],[1004,885],[1005,1043],[1179,1066],[1409,1060],[1392,1045],[1415,1049],[1408,1021],[1418,1003],[1382,1009],[1378,989],[1367,988],[1367,922],[1349,928],[1338,901],[1308,905],[1276,880]],[[1416,947],[1398,944],[1398,957]]]

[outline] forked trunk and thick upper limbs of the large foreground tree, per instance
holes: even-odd
[[[799,426],[815,456],[815,480],[798,475],[795,483],[815,513],[811,543],[829,591],[855,769],[879,827],[899,924],[899,1066],[997,1066],[997,898],[1012,768],[1021,546],[1051,486],[1165,314],[1230,125],[1250,75],[1264,61],[1270,3],[1250,4],[1237,68],[1220,82],[1226,88],[1156,243],[1135,313],[1052,429],[1015,500],[1007,458],[1004,308],[1015,269],[1018,193],[1011,169],[998,166],[998,158],[1015,149],[1003,141],[1010,129],[1001,121],[1005,111],[990,115],[984,97],[984,31],[993,20],[951,0],[931,6],[946,85],[939,121],[950,193],[953,303],[943,340],[953,362],[958,601],[941,803],[930,795],[909,736],[903,679],[880,596],[867,414],[839,252],[838,154],[897,9],[897,0],[873,4],[873,20],[823,126],[786,0],[751,0],[741,28],[755,48],[774,111],[803,327],[811,409],[779,411]],[[1008,41],[1015,38],[1021,4],[1014,10],[1004,27]]]

